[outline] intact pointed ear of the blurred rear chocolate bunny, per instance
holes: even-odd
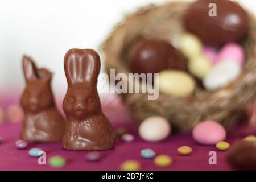
[[[38,80],[34,61],[32,61],[30,57],[23,56],[22,64],[23,64],[23,72],[24,72],[26,82]]]

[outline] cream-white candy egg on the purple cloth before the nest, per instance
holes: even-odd
[[[163,117],[149,117],[139,126],[139,135],[148,142],[159,142],[166,139],[170,134],[171,125]]]

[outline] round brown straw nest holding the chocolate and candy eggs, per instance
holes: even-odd
[[[176,37],[185,31],[181,20],[188,5],[189,2],[180,1],[151,5],[127,16],[102,46],[106,72],[115,68],[115,73],[131,73],[126,59],[127,48],[138,38],[175,42]],[[182,131],[191,130],[205,119],[213,119],[226,127],[245,121],[244,116],[256,93],[256,21],[253,14],[248,13],[248,16],[249,32],[242,42],[246,65],[236,81],[214,92],[197,88],[193,96],[186,98],[160,94],[157,100],[148,100],[146,94],[123,94],[134,117],[141,122],[152,115],[161,115]]]

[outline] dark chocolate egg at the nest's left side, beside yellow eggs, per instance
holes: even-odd
[[[140,39],[129,49],[128,60],[134,73],[158,73],[163,69],[187,69],[187,60],[164,40]]]

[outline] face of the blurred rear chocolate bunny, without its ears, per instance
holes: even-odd
[[[51,87],[46,82],[28,82],[26,89],[23,92],[21,104],[25,111],[38,112],[52,106],[53,96]]]

